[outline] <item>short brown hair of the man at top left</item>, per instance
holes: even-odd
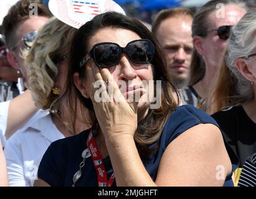
[[[29,13],[31,8],[29,5],[37,5],[38,16],[50,17],[50,12],[42,4],[40,0],[20,0],[16,2],[8,11],[8,14],[4,17],[2,21],[2,34],[6,39],[7,47],[10,48],[15,45],[16,39],[14,39],[17,27],[21,22],[29,19]]]

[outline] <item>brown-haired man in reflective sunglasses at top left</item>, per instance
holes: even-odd
[[[32,3],[37,5],[38,16],[30,17]],[[2,22],[2,32],[9,49],[7,58],[12,67],[22,73],[24,85],[27,81],[27,69],[21,56],[22,50],[29,48],[36,37],[36,31],[48,20],[50,14],[40,0],[20,0],[12,6]]]

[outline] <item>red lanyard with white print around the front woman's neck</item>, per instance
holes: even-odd
[[[94,167],[97,171],[98,175],[98,187],[111,187],[115,180],[115,174],[113,173],[108,180],[107,172],[103,165],[102,155],[98,150],[94,137],[92,136],[92,129],[87,139],[87,147],[90,150],[90,154],[92,155],[92,160]]]

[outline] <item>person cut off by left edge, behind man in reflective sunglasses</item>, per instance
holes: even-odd
[[[4,36],[0,34],[0,102],[10,100],[19,95],[16,84],[21,74],[18,74],[17,70],[8,62],[7,52]]]

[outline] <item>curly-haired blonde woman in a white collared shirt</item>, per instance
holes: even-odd
[[[49,114],[18,131],[7,142],[5,154],[11,186],[32,186],[37,178],[37,167],[50,143],[87,129],[87,124],[76,123],[71,131],[62,118],[65,104],[60,96],[65,88],[70,41],[76,29],[56,18],[40,29],[24,58],[29,71],[29,89],[37,108]]]

